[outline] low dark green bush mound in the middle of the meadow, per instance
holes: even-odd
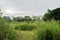
[[[20,25],[17,25],[15,29],[27,31],[35,29],[35,26],[28,23],[21,23]]]

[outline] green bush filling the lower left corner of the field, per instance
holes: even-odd
[[[0,19],[0,40],[16,40],[16,32],[9,27],[9,24]]]

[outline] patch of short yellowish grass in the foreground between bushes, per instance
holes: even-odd
[[[17,36],[19,40],[33,40],[34,32],[33,31],[18,31]]]

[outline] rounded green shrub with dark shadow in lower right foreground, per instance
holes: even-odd
[[[38,30],[36,40],[53,40],[53,34],[47,29]]]

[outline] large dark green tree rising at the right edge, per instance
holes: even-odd
[[[53,10],[48,10],[47,13],[45,13],[43,20],[60,20],[60,8],[56,8]]]

